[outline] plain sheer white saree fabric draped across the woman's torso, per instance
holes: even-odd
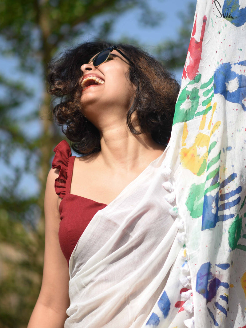
[[[165,153],[97,212],[80,237],[69,263],[65,328],[140,327],[151,312],[180,250],[163,170]]]

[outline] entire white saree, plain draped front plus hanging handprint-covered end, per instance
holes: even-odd
[[[65,327],[246,327],[246,3],[198,0],[171,139],[81,236]]]

